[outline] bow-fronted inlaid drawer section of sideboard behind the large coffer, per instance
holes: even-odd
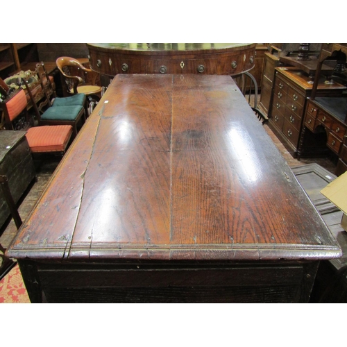
[[[256,44],[87,44],[90,68],[101,75],[219,74],[235,76],[255,65]]]

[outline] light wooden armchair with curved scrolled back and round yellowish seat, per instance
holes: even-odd
[[[56,64],[62,76],[63,89],[67,93],[66,95],[85,94],[95,96],[99,101],[102,87],[86,82],[87,74],[95,74],[94,71],[87,69],[81,62],[71,57],[60,57],[56,60]]]

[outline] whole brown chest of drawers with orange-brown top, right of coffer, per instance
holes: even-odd
[[[322,80],[318,85],[320,95],[338,96],[343,90],[346,87],[339,83],[325,84]],[[310,78],[301,69],[276,67],[269,126],[294,158],[298,154],[307,97],[311,91]]]

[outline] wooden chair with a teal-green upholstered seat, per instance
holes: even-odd
[[[85,96],[78,96],[77,100],[74,98],[72,102],[70,100],[65,101],[69,98],[59,98],[51,100],[51,96],[55,96],[51,81],[45,69],[40,70],[44,65],[37,65],[35,71],[31,74],[27,74],[26,78],[23,78],[26,90],[30,96],[33,108],[35,110],[37,121],[39,125],[71,125],[74,129],[74,137],[78,133],[78,123],[85,121]],[[34,75],[40,81],[42,90],[44,92],[44,101],[37,105],[37,101],[31,92],[31,88],[28,86],[28,78]]]

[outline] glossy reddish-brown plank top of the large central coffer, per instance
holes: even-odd
[[[8,256],[316,260],[341,250],[230,76],[117,75]]]

